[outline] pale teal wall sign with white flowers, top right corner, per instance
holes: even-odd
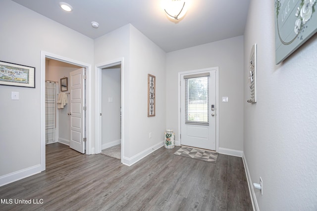
[[[281,63],[317,32],[317,0],[275,0],[275,62]]]

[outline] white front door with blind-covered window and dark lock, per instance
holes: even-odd
[[[181,145],[216,149],[216,71],[180,75]]]

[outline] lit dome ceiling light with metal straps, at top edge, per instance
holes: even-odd
[[[164,11],[167,17],[178,20],[187,12],[187,1],[185,0],[164,0]]]

